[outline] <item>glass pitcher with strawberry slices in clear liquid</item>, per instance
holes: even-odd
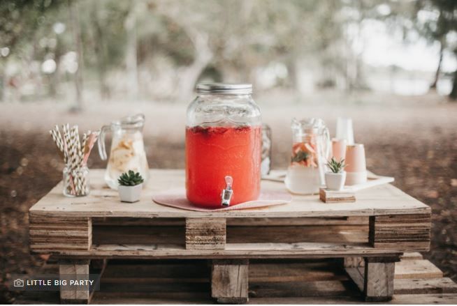
[[[292,155],[286,188],[295,194],[316,194],[325,185],[325,167],[330,153],[330,134],[320,118],[293,118]]]

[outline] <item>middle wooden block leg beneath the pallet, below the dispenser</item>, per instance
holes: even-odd
[[[243,304],[248,300],[249,261],[214,260],[211,296],[218,303]]]

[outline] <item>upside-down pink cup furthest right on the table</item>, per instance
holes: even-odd
[[[351,144],[346,146],[347,172],[346,185],[356,185],[367,181],[367,166],[365,161],[365,148],[363,144]]]

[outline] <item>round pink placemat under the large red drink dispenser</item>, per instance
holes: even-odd
[[[152,200],[157,204],[185,209],[187,211],[233,211],[235,209],[260,208],[287,204],[292,201],[292,197],[286,191],[262,190],[259,199],[256,199],[255,201],[212,209],[194,206],[187,200],[186,190],[184,188],[179,188],[159,192],[152,197]]]

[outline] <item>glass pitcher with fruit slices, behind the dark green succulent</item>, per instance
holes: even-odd
[[[105,135],[113,133],[110,158],[106,166],[105,181],[112,189],[117,189],[117,178],[129,170],[140,172],[145,182],[149,178],[145,145],[143,142],[143,126],[145,115],[137,114],[103,125],[99,135],[99,153],[106,160]],[[143,184],[145,185],[145,184]]]

